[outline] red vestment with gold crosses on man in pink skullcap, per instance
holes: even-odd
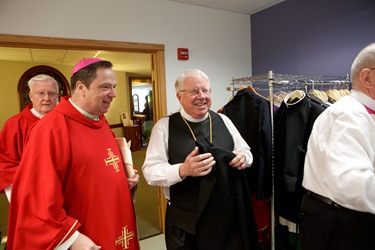
[[[62,98],[29,135],[7,249],[54,249],[78,230],[104,250],[138,250],[121,153],[105,117],[89,120]]]

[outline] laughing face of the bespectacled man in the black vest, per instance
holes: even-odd
[[[195,119],[200,119],[211,107],[211,94],[203,93],[209,89],[208,79],[200,75],[187,75],[176,95],[185,112]],[[194,93],[194,90],[197,90],[197,93]]]

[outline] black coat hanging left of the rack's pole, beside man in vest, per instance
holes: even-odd
[[[222,113],[232,120],[253,154],[253,164],[245,170],[250,192],[255,193],[257,199],[270,197],[272,128],[269,101],[245,88],[223,107]]]

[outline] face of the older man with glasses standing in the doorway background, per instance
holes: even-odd
[[[42,116],[48,114],[57,104],[58,88],[52,80],[34,81],[29,97],[33,108]]]

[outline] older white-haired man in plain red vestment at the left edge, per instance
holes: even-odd
[[[20,164],[24,142],[31,127],[57,104],[59,85],[49,75],[36,75],[28,81],[31,103],[9,118],[0,132],[0,190],[10,200],[11,187]]]

